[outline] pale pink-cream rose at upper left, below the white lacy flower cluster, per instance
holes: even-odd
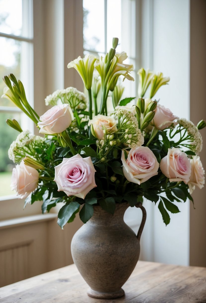
[[[39,132],[44,135],[59,134],[74,120],[74,115],[69,104],[55,105],[40,117]]]

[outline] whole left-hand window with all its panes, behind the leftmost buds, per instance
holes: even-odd
[[[33,105],[33,18],[32,0],[0,0],[0,93],[6,87],[3,76],[14,73],[23,82],[27,99]],[[29,94],[29,95],[28,95]],[[13,195],[10,189],[14,163],[8,159],[8,148],[18,132],[6,125],[16,119],[23,129],[32,124],[11,101],[0,99],[0,197]]]

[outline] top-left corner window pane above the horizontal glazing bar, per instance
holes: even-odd
[[[0,0],[0,32],[31,38],[29,19],[31,0]]]

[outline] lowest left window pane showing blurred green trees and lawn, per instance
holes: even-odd
[[[15,167],[13,161],[8,158],[8,149],[11,143],[16,140],[19,132],[6,124],[6,119],[15,119],[19,123],[20,113],[0,112],[0,196],[13,195],[11,191],[11,172]]]

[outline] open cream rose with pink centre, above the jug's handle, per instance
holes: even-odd
[[[121,160],[124,176],[130,182],[140,185],[158,174],[159,163],[149,147],[132,148],[128,153],[127,160],[125,160],[123,150]]]

